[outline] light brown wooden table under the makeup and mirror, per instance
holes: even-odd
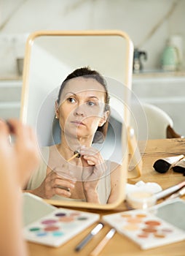
[[[141,143],[141,148],[143,148],[143,143]],[[142,152],[141,152],[142,153]],[[152,165],[154,162],[161,157],[170,157],[178,154],[185,154],[185,138],[178,139],[166,139],[166,140],[149,140],[146,144],[145,151],[143,152],[143,170],[141,178],[138,178],[136,181],[142,180],[145,182],[157,182],[160,186],[165,189],[167,187],[178,184],[181,181],[184,181],[185,177],[181,173],[174,173],[173,170],[169,170],[168,173],[161,174],[154,171]],[[185,199],[185,197],[183,197]],[[125,211],[126,206],[123,202],[119,207],[114,210],[109,211],[98,211],[98,214],[111,214],[118,211]],[[98,235],[96,235],[92,241],[87,244],[87,246],[82,249],[81,252],[74,252],[74,247],[79,241],[90,232],[92,227],[84,230],[75,238],[72,238],[63,246],[59,248],[52,248],[49,246],[43,246],[39,244],[27,243],[28,252],[30,256],[72,256],[72,255],[89,255],[89,253],[94,249],[94,247],[101,241],[105,234],[109,230],[109,226],[101,230]],[[181,256],[185,255],[185,241],[170,244],[167,246],[160,246],[154,249],[141,250],[133,241],[126,238],[125,236],[116,233],[113,238],[109,241],[106,247],[101,252],[101,255],[125,255],[125,256],[139,256],[139,255],[152,255],[152,256]]]

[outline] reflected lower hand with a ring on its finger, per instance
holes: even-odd
[[[37,189],[32,190],[32,193],[46,199],[50,199],[54,195],[70,197],[76,180],[67,173],[66,168],[67,166],[63,165],[54,171],[51,170],[42,184]]]

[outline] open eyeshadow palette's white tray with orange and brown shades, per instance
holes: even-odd
[[[103,216],[117,232],[132,239],[141,249],[150,249],[185,239],[184,230],[143,210]]]

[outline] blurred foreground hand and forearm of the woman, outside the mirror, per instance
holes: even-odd
[[[9,142],[9,133],[15,142]],[[0,255],[27,255],[22,236],[20,187],[39,165],[36,138],[16,120],[0,120]]]

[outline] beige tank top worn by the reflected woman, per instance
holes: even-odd
[[[37,187],[40,186],[40,184],[42,184],[42,181],[44,181],[44,178],[46,177],[46,173],[47,173],[47,162],[49,160],[49,155],[50,155],[50,147],[43,147],[42,148],[42,162],[41,162],[38,170],[36,170],[34,172],[34,174],[31,176],[31,178],[29,179],[26,189],[28,189],[28,190],[36,189]],[[98,189],[97,189],[100,202],[103,204],[107,203],[107,201],[109,199],[110,192],[111,192],[110,166],[111,166],[111,162],[107,160],[106,175],[103,176],[103,178],[100,178],[100,181],[98,184]],[[66,198],[66,197],[61,197],[58,195],[53,196],[51,199],[52,200],[54,199],[54,200],[82,201],[80,199],[78,200],[78,199],[73,199],[73,198]]]

